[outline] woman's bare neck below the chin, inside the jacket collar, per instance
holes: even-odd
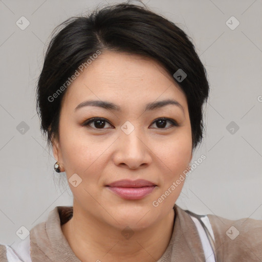
[[[174,227],[174,210],[159,223],[124,238],[116,228],[81,221],[74,214],[61,226],[71,249],[82,262],[156,262],[165,252]],[[106,233],[105,233],[106,232]],[[122,236],[122,237],[120,237]]]

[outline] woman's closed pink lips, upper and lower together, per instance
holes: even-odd
[[[138,200],[150,194],[157,185],[147,180],[119,180],[109,185],[108,189],[122,197],[123,199]]]

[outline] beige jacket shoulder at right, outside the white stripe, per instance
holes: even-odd
[[[217,256],[220,259],[261,261],[262,220],[250,218],[228,220],[212,214],[207,216],[214,233]]]

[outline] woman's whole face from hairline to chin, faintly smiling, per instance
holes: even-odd
[[[181,106],[148,105],[167,99]],[[119,110],[79,106],[91,100]],[[99,119],[84,125],[94,117]],[[68,87],[59,134],[53,152],[67,174],[74,210],[133,229],[170,214],[185,181],[181,174],[192,158],[191,126],[186,96],[157,62],[108,51],[98,56]],[[155,186],[108,186],[138,179]]]

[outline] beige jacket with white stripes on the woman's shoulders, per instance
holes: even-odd
[[[262,221],[249,218],[233,221],[211,214],[201,216],[177,205],[174,211],[169,245],[156,262],[262,261]],[[47,221],[30,230],[30,236],[21,242],[19,249],[0,245],[0,262],[80,262],[61,231],[61,225],[72,215],[73,207],[55,207]],[[208,245],[212,252],[206,258]]]

